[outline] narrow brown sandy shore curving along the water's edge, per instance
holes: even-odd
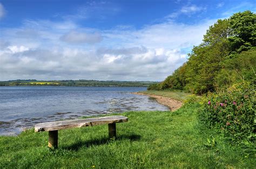
[[[168,97],[163,97],[163,96],[157,96],[155,94],[144,94],[144,93],[139,93],[139,92],[132,92],[132,94],[138,94],[138,95],[144,95],[144,96],[156,98],[156,100],[159,104],[168,106],[171,111],[179,109],[182,105],[182,102],[180,102],[179,100],[174,100],[174,99],[171,99]]]

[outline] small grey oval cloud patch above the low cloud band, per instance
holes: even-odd
[[[60,40],[63,40],[67,43],[88,43],[88,44],[94,44],[99,43],[102,41],[102,36],[100,33],[84,33],[84,32],[76,32],[71,31],[69,33],[66,33],[62,37],[60,37]]]

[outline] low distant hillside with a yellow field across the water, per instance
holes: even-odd
[[[9,80],[0,82],[0,86],[120,86],[120,87],[148,87],[158,82],[149,81],[99,81],[99,80]]]

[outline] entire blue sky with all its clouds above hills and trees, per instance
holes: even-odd
[[[0,0],[0,81],[162,81],[256,1]]]

